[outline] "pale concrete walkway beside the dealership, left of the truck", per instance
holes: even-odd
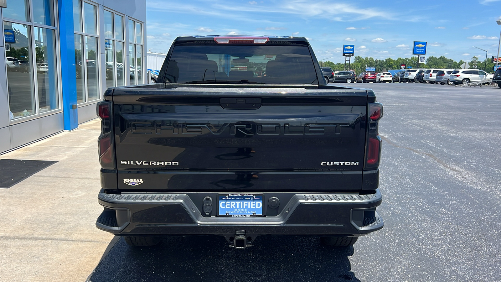
[[[0,281],[85,281],[113,235],[95,226],[102,211],[100,120],[0,159],[58,161],[0,189]]]

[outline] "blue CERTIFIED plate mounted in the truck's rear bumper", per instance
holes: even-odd
[[[218,216],[263,216],[263,195],[222,194],[217,198]]]

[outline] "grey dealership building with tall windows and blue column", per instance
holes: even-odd
[[[0,154],[96,117],[146,82],[146,0],[0,0]]]

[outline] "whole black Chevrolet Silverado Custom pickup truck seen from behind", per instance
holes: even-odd
[[[326,85],[305,38],[178,37],[156,84],[110,88],[97,111],[96,226],[130,245],[217,234],[241,249],[274,234],[347,246],[383,227],[382,105]]]

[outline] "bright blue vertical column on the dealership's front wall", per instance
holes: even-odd
[[[75,76],[75,35],[73,33],[72,0],[58,0],[58,9],[64,129],[72,130],[78,127],[78,109],[76,108],[77,78]]]

